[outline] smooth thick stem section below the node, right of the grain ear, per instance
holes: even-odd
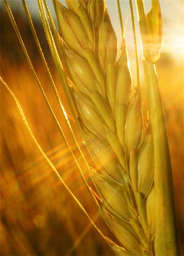
[[[148,61],[145,62],[145,73],[148,87],[149,112],[151,113],[155,164],[155,255],[179,255],[172,170],[164,110],[156,70],[154,65]]]

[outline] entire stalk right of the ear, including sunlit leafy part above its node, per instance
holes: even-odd
[[[172,170],[164,109],[157,80],[155,62],[160,56],[161,14],[158,0],[152,0],[152,9],[144,13],[143,0],[136,0],[143,42],[144,70],[147,80],[149,115],[153,134],[155,168],[155,255],[179,255],[176,214],[174,207]],[[150,26],[152,24],[152,27]],[[149,43],[156,49],[152,52]]]

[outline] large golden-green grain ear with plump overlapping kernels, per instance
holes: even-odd
[[[153,255],[153,143],[143,129],[140,92],[131,86],[125,42],[117,39],[104,1],[54,1],[83,138],[96,167],[91,176],[102,216],[120,255]]]

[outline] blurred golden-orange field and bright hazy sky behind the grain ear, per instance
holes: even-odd
[[[31,30],[20,1],[8,1],[22,34],[25,46],[33,61],[37,75],[53,106],[67,139],[73,144],[61,110],[55,101],[52,88],[41,64]],[[50,1],[49,7],[52,10]],[[107,1],[109,14],[118,35],[119,24],[115,1]],[[161,0],[164,41],[161,59],[156,64],[164,102],[170,156],[172,160],[174,195],[178,236],[181,255],[184,253],[184,189],[183,189],[183,1]],[[37,11],[35,0],[28,1],[38,38],[46,60],[63,97],[61,83],[55,71],[48,44]],[[130,67],[135,76],[129,1],[122,1],[123,21],[126,27],[126,40],[129,49]],[[146,10],[149,10],[146,1]],[[134,6],[135,9],[135,6]],[[102,232],[111,234],[99,216],[96,205],[85,188],[74,159],[62,141],[55,123],[46,108],[44,99],[25,60],[3,2],[1,12],[1,76],[15,92],[23,107],[25,117],[38,143],[57,167],[59,174],[79,198],[90,216]],[[136,12],[135,12],[136,14]],[[136,23],[138,30],[138,24]],[[118,40],[119,36],[118,36]],[[139,40],[138,40],[139,42]],[[139,46],[140,60],[142,58]],[[112,255],[100,235],[92,228],[61,181],[53,174],[41,156],[25,128],[21,115],[12,97],[3,86],[1,88],[1,255]],[[144,90],[144,82],[143,82]],[[144,104],[144,102],[143,102]],[[69,110],[67,110],[69,112]],[[69,112],[69,115],[71,113]],[[72,119],[71,119],[72,122]],[[72,122],[76,131],[75,123]],[[80,141],[79,135],[78,139]],[[82,144],[82,142],[81,142]],[[83,147],[83,146],[82,146]],[[87,170],[75,150],[84,174]],[[84,150],[85,151],[85,150]],[[91,181],[88,179],[90,185]]]

